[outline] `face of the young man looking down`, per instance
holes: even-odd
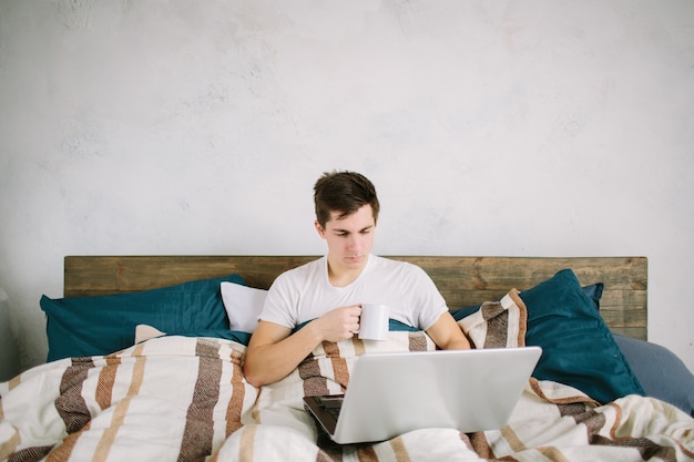
[[[376,220],[370,205],[365,205],[351,215],[337,219],[333,212],[325,229],[316,222],[316,229],[328,244],[328,261],[339,269],[360,269],[368,261],[374,246]]]

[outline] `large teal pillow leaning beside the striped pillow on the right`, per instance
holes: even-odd
[[[528,307],[525,345],[542,347],[533,372],[601,403],[645,392],[612,332],[571,269],[520,294]]]

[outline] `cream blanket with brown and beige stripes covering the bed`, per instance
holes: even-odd
[[[47,363],[0,383],[0,460],[694,458],[694,421],[670,404],[629,396],[598,405],[574,389],[534,379],[500,430],[461,434],[426,429],[346,446],[318,438],[303,409],[305,394],[341,391],[364,352],[432,348],[425,333],[405,331],[390,332],[385,342],[325,343],[292,374],[262,389],[243,378],[245,347],[214,338],[162,337],[111,356]]]

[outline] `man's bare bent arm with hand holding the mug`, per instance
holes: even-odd
[[[254,387],[262,387],[285,378],[323,341],[354,337],[360,312],[358,306],[336,308],[295,333],[278,324],[261,321],[246,349],[246,380]]]

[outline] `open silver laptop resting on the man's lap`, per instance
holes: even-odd
[[[525,347],[365,353],[345,394],[304,402],[338,444],[385,441],[423,428],[500,429],[541,352]]]

